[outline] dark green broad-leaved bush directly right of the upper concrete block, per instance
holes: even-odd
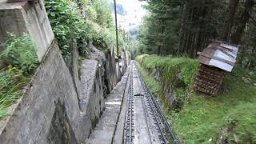
[[[71,51],[69,50],[70,42],[74,38],[81,38],[81,34],[86,34],[89,27],[82,21],[84,18],[78,14],[78,6],[74,2],[66,0],[46,0],[45,2],[48,18],[62,54],[68,56]]]

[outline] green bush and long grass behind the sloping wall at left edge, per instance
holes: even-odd
[[[9,34],[5,47],[0,55],[0,118],[7,114],[7,107],[22,95],[22,89],[38,67],[35,45],[28,34],[18,38]]]

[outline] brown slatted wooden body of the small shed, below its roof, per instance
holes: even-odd
[[[225,75],[225,70],[201,64],[194,83],[194,89],[204,94],[216,96]]]

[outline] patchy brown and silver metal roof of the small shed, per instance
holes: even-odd
[[[202,64],[215,66],[230,72],[236,62],[238,50],[239,46],[222,41],[213,41],[205,50],[198,52],[198,60]]]

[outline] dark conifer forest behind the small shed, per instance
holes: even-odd
[[[138,54],[196,58],[211,39],[240,45],[238,63],[256,66],[254,0],[148,0]]]

